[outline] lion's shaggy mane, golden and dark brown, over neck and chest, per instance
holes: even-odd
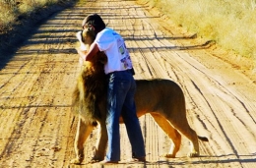
[[[95,39],[92,31],[84,30],[83,35],[86,44],[91,45]],[[89,39],[92,37],[94,39]],[[84,121],[93,123],[100,118],[97,110],[97,101],[106,94],[106,75],[104,74],[104,63],[106,56],[103,52],[97,52],[92,61],[85,61],[79,73],[77,84],[73,91],[72,105]]]

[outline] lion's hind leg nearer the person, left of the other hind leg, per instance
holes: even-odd
[[[160,126],[162,131],[168,136],[170,140],[172,140],[170,150],[167,154],[164,154],[164,157],[174,158],[180,148],[181,135],[169,124],[169,122],[163,116],[158,113],[151,113],[151,115]]]

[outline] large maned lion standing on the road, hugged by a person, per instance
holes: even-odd
[[[96,34],[86,29],[81,33],[83,42],[90,46]],[[103,61],[102,61],[103,60]],[[71,163],[81,164],[84,159],[84,142],[93,129],[98,125],[96,151],[92,162],[104,159],[107,146],[106,131],[106,76],[103,64],[106,61],[104,53],[98,52],[91,62],[86,62],[82,70],[75,91],[73,105],[79,112],[78,128],[75,138],[76,158]],[[137,116],[150,114],[162,131],[172,141],[170,150],[163,155],[174,158],[181,144],[181,134],[191,141],[189,157],[200,156],[198,140],[208,141],[200,137],[191,129],[186,118],[185,97],[180,86],[170,80],[136,80],[137,91],[135,103]],[[120,123],[123,123],[120,117]]]

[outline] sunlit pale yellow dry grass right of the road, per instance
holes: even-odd
[[[158,8],[176,26],[256,60],[256,0],[138,0]]]

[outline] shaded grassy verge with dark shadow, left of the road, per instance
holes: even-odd
[[[0,69],[36,26],[77,0],[0,0]]]

